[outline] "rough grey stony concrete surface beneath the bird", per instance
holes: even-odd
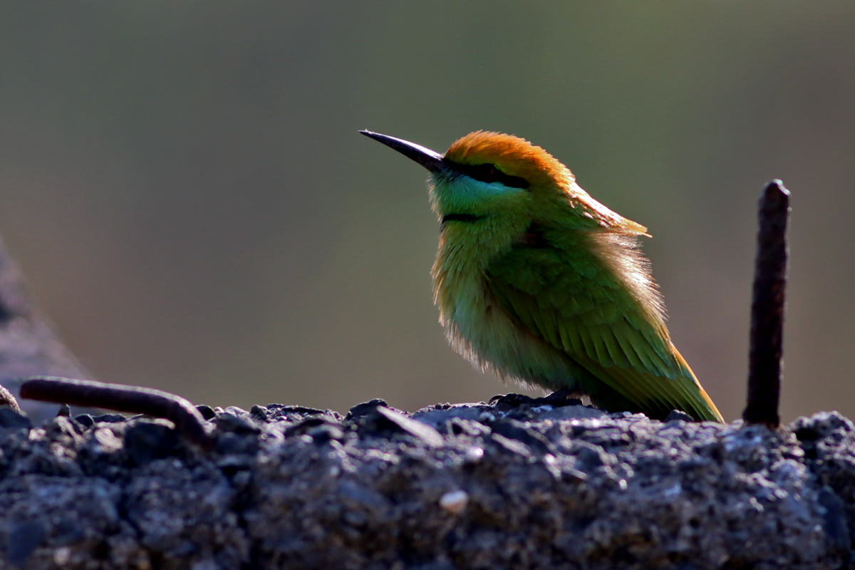
[[[839,568],[855,426],[659,422],[527,397],[404,414],[0,409],[2,568]]]

